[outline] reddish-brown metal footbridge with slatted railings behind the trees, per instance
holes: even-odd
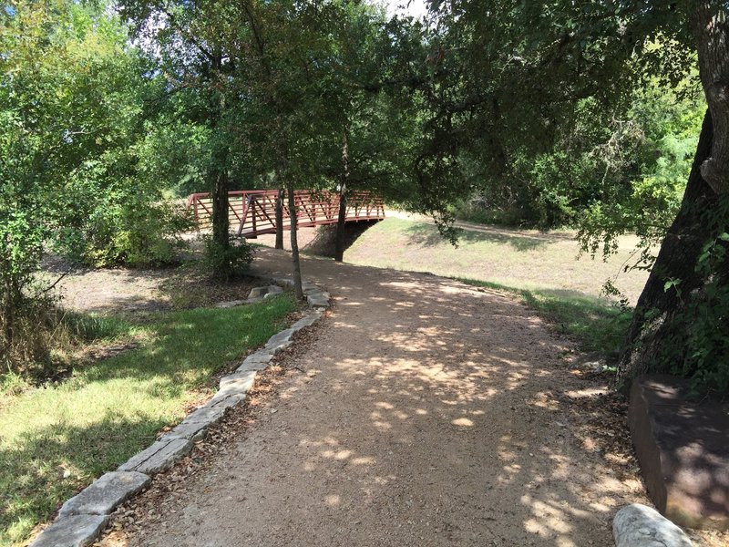
[[[228,218],[239,236],[253,239],[264,233],[276,232],[275,190],[240,190],[228,193]],[[339,215],[339,193],[334,191],[297,190],[293,192],[296,205],[296,225],[299,228],[336,224]],[[283,230],[291,230],[288,200],[284,200]],[[346,222],[381,221],[385,205],[381,198],[368,191],[347,192]],[[210,193],[194,193],[188,198],[198,228],[209,228],[212,218]]]

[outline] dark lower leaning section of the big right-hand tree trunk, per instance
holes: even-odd
[[[670,366],[662,356],[667,341],[681,347],[681,329],[673,329],[673,318],[700,289],[704,276],[695,271],[703,245],[715,236],[705,220],[708,211],[718,205],[718,196],[702,177],[701,166],[712,150],[714,128],[707,111],[693,168],[683,194],[681,210],[663,239],[651,275],[635,308],[621,350],[618,387],[629,389],[634,377],[646,372],[667,372]],[[678,282],[666,288],[667,282]],[[681,359],[680,355],[673,355]]]

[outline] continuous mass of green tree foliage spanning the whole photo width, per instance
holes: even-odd
[[[278,189],[290,209],[296,187],[339,191],[343,202],[368,189],[434,215],[450,236],[452,212],[464,209],[578,226],[590,253],[637,233],[641,267],[656,266],[621,379],[675,361],[723,388],[715,370],[698,372],[724,359],[721,336],[687,326],[680,349],[655,348],[682,317],[726,316],[725,261],[702,258],[725,245],[725,5],[430,7],[422,23],[346,0],[128,0],[118,15],[71,1],[5,4],[3,345],[18,310],[43,300],[33,284],[48,248],[95,265],[168,263],[185,223],[166,198],[210,191],[208,259],[229,277],[251,260],[231,244],[232,186]],[[297,279],[295,230],[292,249]]]

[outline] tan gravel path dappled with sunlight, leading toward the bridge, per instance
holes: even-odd
[[[288,272],[262,250],[257,267]],[[588,384],[499,294],[306,259],[334,311],[272,408],[129,545],[611,545],[635,501],[573,434]],[[174,511],[174,512],[172,512]]]

